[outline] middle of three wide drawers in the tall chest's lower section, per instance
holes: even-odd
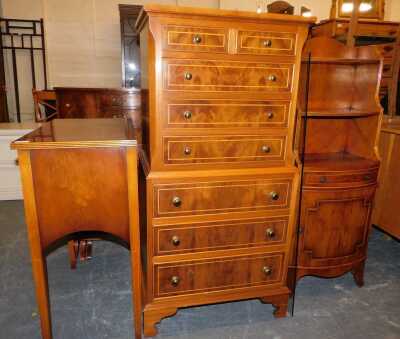
[[[286,241],[288,217],[154,229],[155,255],[247,248]]]

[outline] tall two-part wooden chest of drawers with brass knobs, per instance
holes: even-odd
[[[259,298],[286,315],[311,22],[168,6],[139,17],[145,335],[194,305]]]

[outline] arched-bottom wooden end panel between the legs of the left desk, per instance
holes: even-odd
[[[43,248],[78,231],[103,231],[129,242],[127,181],[116,175],[126,173],[125,150],[37,150],[31,161]]]

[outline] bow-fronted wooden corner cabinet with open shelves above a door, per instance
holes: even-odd
[[[292,283],[352,272],[363,285],[377,186],[382,59],[372,46],[310,39],[303,50],[297,139],[302,172]],[[293,287],[293,286],[292,286]]]

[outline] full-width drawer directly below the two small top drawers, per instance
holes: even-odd
[[[290,91],[292,64],[167,60],[164,88],[174,91]]]

